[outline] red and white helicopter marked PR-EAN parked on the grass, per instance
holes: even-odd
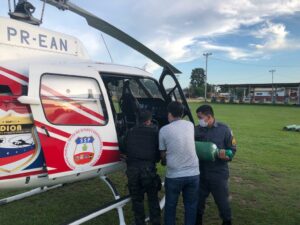
[[[76,37],[41,28],[29,2],[14,1],[11,10],[9,1],[10,18],[0,17],[0,190],[36,189],[0,204],[96,176],[118,199],[106,175],[125,169],[118,140],[136,125],[138,112],[150,110],[163,126],[167,104],[178,100],[193,121],[175,76],[180,71],[68,0],[42,1],[43,7],[51,4],[82,16],[91,27],[162,66],[163,72],[157,81],[143,69],[93,62]],[[118,208],[120,224],[125,224],[126,201],[120,198],[110,206]]]

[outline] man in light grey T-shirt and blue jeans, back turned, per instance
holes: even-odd
[[[167,166],[164,225],[176,224],[176,206],[182,193],[184,224],[194,225],[198,206],[199,160],[195,150],[194,124],[181,119],[184,106],[168,105],[169,124],[159,132],[159,150]]]

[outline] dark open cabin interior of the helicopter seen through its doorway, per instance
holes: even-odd
[[[108,92],[118,136],[139,123],[139,113],[150,111],[153,123],[168,123],[167,105],[183,102],[181,88],[173,75],[162,75],[159,82],[152,77],[101,73]],[[185,112],[184,116],[187,113]]]

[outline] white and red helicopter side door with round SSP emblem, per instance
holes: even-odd
[[[96,70],[31,67],[26,98],[49,178],[100,171],[120,160],[109,99]]]

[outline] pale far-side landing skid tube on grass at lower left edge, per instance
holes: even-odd
[[[23,198],[27,198],[27,197],[30,197],[30,196],[33,196],[33,195],[37,195],[37,194],[40,194],[40,193],[43,193],[43,192],[61,187],[61,186],[63,186],[63,184],[57,184],[57,185],[50,186],[50,187],[46,186],[46,187],[35,188],[35,189],[30,190],[30,191],[23,192],[21,194],[17,194],[17,195],[13,195],[13,196],[10,196],[10,197],[7,197],[7,198],[0,199],[0,205],[6,205],[8,203],[11,203],[11,202],[14,202],[14,201],[17,201],[17,200],[21,200]]]

